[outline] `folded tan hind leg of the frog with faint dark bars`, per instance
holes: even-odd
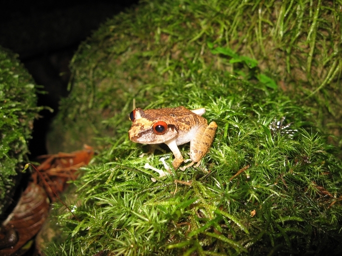
[[[190,159],[192,162],[199,162],[208,152],[214,140],[217,124],[211,122],[209,125],[202,125],[196,131],[194,138],[190,141]]]

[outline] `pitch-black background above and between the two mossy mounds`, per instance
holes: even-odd
[[[59,100],[68,95],[69,62],[82,40],[101,23],[138,0],[8,0],[0,7],[0,45],[19,53],[20,60],[43,86],[38,104],[50,106],[35,120],[29,157],[46,154],[46,134],[58,112]]]

